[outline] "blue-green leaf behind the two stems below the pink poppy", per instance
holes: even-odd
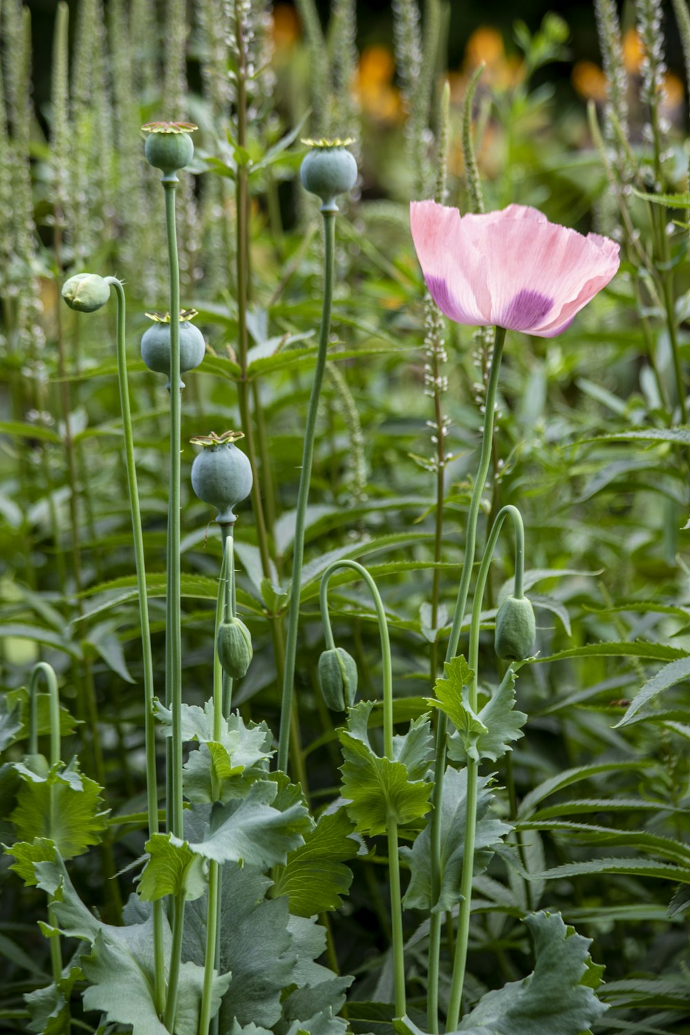
[[[511,827],[489,815],[493,795],[490,776],[481,776],[477,791],[477,827],[474,873],[481,874],[493,855],[492,846],[510,833]],[[417,835],[412,848],[401,848],[400,855],[410,864],[410,884],[403,898],[408,909],[445,912],[461,900],[460,877],[464,858],[468,771],[450,766],[446,770],[441,808],[441,892],[431,901],[431,835],[427,825]]]

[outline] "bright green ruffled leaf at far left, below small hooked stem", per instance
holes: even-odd
[[[82,855],[90,845],[100,841],[106,829],[100,788],[95,780],[83,776],[73,759],[68,766],[59,762],[51,769],[44,760],[34,767],[17,763],[22,783],[17,794],[17,807],[9,819],[14,824],[19,840],[49,838],[63,859]]]

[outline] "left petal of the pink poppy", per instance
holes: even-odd
[[[412,202],[410,226],[426,286],[434,302],[456,323],[490,323],[486,260],[463,233],[456,208]]]

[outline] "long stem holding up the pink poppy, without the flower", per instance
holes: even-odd
[[[475,548],[477,541],[477,521],[479,518],[479,506],[481,503],[484,483],[488,475],[491,460],[491,442],[493,438],[493,410],[496,407],[496,394],[499,385],[499,372],[501,369],[501,359],[503,347],[506,341],[506,331],[503,327],[496,329],[496,342],[491,357],[491,368],[489,371],[488,384],[486,387],[486,398],[484,409],[484,428],[479,456],[479,468],[472,491],[470,510],[468,513],[467,535],[464,544],[464,560],[462,564],[462,574],[457,591],[455,603],[455,614],[453,624],[448,640],[446,650],[446,660],[455,657],[457,646],[462,628],[464,609],[468,602],[470,590],[470,579],[475,562]],[[445,714],[439,711],[437,718],[436,737],[436,765],[433,791],[431,793],[431,804],[433,810],[430,820],[431,835],[431,901],[436,903],[441,891],[441,803],[443,800],[443,777],[446,769],[446,737],[448,734],[448,720]],[[431,913],[429,926],[429,962],[428,962],[428,1003],[427,1003],[427,1024],[432,1035],[439,1031],[439,966],[441,954],[441,931],[443,926],[443,913]]]

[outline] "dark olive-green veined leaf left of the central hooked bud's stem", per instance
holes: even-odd
[[[284,867],[274,873],[272,895],[288,895],[295,916],[313,916],[342,906],[340,895],[352,884],[352,870],[343,865],[357,855],[358,845],[350,835],[353,824],[344,808],[325,812],[304,845],[288,856]]]

